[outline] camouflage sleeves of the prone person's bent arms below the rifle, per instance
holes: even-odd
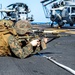
[[[30,43],[27,43],[25,46],[21,47],[19,41],[12,35],[8,39],[8,44],[11,52],[19,58],[26,58],[27,56],[35,54],[46,48],[46,44],[43,42],[43,40],[41,40],[40,47],[33,47]]]

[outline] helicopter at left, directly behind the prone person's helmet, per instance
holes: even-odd
[[[29,7],[25,3],[13,3],[5,9],[0,9],[1,19],[12,20],[13,22],[23,19],[33,21],[33,15],[28,16],[30,12]]]

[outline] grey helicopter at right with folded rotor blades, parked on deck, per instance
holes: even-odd
[[[65,24],[69,24],[70,26],[75,24],[74,0],[42,0],[41,3],[45,17],[51,21],[51,27],[55,23],[60,28]]]

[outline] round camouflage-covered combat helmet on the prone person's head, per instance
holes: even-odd
[[[32,32],[31,24],[27,20],[19,20],[16,22],[14,28],[18,35],[24,35],[27,32]]]

